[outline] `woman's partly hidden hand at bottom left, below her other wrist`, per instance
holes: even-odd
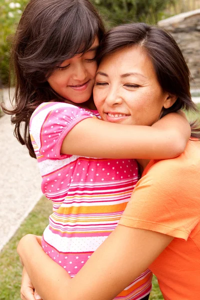
[[[30,278],[26,272],[25,267],[23,267],[23,271],[22,271],[20,297],[22,300],[41,299],[41,297],[37,294],[37,292],[34,291],[34,286],[30,281]]]

